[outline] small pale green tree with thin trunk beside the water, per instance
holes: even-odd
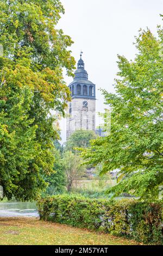
[[[65,168],[67,191],[70,192],[74,179],[83,175],[86,169],[83,165],[82,158],[71,151],[65,152],[63,164]]]

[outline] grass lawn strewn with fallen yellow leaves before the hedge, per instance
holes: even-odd
[[[39,218],[0,218],[0,245],[136,245],[109,234],[40,221]]]

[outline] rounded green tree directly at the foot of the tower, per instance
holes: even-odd
[[[66,142],[65,150],[71,150],[74,152],[74,148],[87,148],[90,145],[90,141],[95,138],[96,134],[94,131],[74,131]]]

